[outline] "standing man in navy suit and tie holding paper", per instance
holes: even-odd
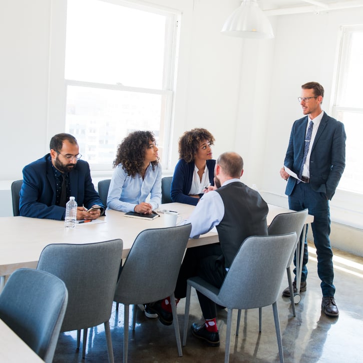
[[[317,82],[308,82],[301,86],[298,97],[305,117],[292,125],[284,166],[296,173],[300,180],[290,176],[284,168],[280,175],[287,180],[286,195],[289,208],[299,211],[307,208],[314,216],[311,223],[317,255],[317,273],[321,280],[321,309],[328,316],[338,316],[333,285],[334,271],[330,247],[330,212],[329,200],[345,167],[345,131],[344,125],[329,117],[322,109],[324,89]],[[301,242],[301,241],[300,241]],[[306,291],[306,263],[308,259],[306,237],[302,261],[300,292]],[[296,266],[296,258],[294,258]],[[296,289],[296,268],[294,269]],[[288,287],[284,296],[290,296]]]

